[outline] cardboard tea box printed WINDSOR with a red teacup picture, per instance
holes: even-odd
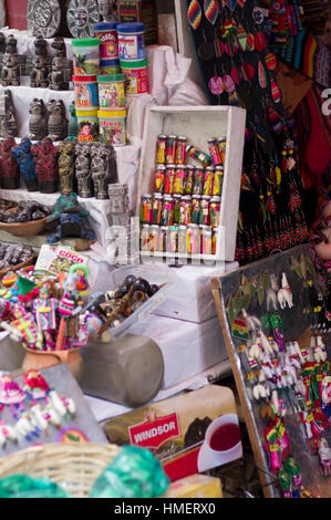
[[[114,417],[104,430],[110,443],[151,449],[172,481],[242,457],[235,395],[216,385]]]

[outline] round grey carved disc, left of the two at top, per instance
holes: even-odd
[[[61,23],[61,7],[58,0],[29,0],[28,28],[35,37],[55,37]]]

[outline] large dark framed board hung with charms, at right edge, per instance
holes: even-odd
[[[265,497],[331,497],[327,293],[309,245],[213,279]]]

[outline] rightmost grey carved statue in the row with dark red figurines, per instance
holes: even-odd
[[[94,144],[91,146],[91,156],[95,198],[107,199],[108,184],[114,183],[114,148],[112,145]]]

